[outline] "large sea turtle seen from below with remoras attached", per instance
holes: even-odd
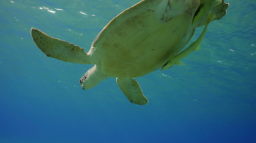
[[[207,25],[225,16],[227,7],[223,0],[142,0],[114,17],[94,39],[88,53],[38,29],[32,28],[31,36],[47,57],[95,64],[80,79],[83,89],[116,77],[130,102],[144,105],[148,99],[134,78],[183,64],[179,61],[200,49]],[[181,52],[195,29],[203,25],[199,39]]]

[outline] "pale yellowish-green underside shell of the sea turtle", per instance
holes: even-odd
[[[167,23],[156,18],[157,0],[144,0],[113,18],[95,38],[102,71],[112,77],[139,77],[161,68],[187,30],[190,15]]]

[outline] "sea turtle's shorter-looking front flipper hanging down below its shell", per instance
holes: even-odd
[[[117,78],[117,84],[131,103],[139,105],[146,105],[149,103],[148,99],[142,93],[137,80],[133,78]]]

